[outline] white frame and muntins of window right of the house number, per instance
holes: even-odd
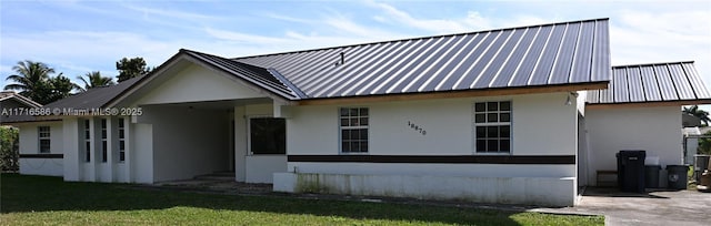
[[[490,111],[489,110],[489,103],[491,102],[495,102],[498,104],[497,110],[495,111]],[[501,103],[502,102],[508,102],[509,103],[509,110],[508,111],[501,111]],[[477,104],[478,103],[483,103],[484,105],[484,111],[483,112],[478,112],[477,111]],[[514,150],[513,150],[513,101],[512,100],[487,100],[487,101],[475,101],[472,104],[472,152],[474,155],[513,155]],[[478,123],[477,122],[477,114],[484,114],[484,122],[483,123]],[[488,122],[488,115],[489,113],[497,113],[497,122]],[[508,122],[501,122],[500,121],[500,116],[501,113],[508,113],[509,114],[509,121]],[[477,144],[478,144],[478,137],[477,137],[477,127],[478,126],[509,126],[509,151],[508,152],[502,152],[502,151],[497,151],[497,152],[479,152]],[[500,133],[499,133],[500,134]],[[501,136],[497,136],[495,138],[498,138],[499,141],[501,140]],[[487,136],[485,138],[489,141],[489,136]],[[498,148],[501,150],[501,148]]]

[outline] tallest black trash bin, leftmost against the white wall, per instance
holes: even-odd
[[[618,152],[618,187],[622,192],[644,193],[644,158],[647,152]]]

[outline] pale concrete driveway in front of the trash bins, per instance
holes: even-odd
[[[579,205],[537,209],[549,213],[595,214],[605,225],[711,225],[711,193],[658,191],[620,193],[614,188],[588,188]]]

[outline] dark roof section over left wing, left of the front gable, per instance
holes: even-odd
[[[91,110],[104,107],[106,104],[114,96],[126,91],[133,85],[142,76],[137,76],[130,80],[126,80],[116,85],[108,85],[101,88],[89,89],[83,93],[78,93],[72,96],[49,103],[43,107],[48,109],[73,109],[73,110]]]

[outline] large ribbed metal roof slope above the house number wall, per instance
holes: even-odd
[[[320,99],[607,82],[609,49],[594,19],[233,60]]]

